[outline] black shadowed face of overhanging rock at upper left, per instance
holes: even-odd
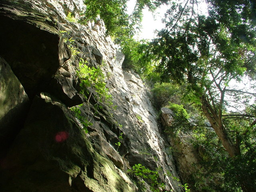
[[[43,90],[60,67],[59,36],[35,25],[0,16],[0,55],[29,98]]]

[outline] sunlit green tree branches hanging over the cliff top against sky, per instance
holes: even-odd
[[[106,24],[107,34],[114,37],[126,35],[132,37],[136,29],[140,28],[142,10],[148,8],[154,12],[161,4],[167,4],[168,0],[137,0],[132,14],[127,14],[128,0],[84,0],[86,12],[82,22],[95,20],[98,16]],[[120,43],[119,40],[116,42]]]

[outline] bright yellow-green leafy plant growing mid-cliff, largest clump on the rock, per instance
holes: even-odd
[[[80,94],[85,98],[88,98],[89,91],[88,88],[92,87],[96,91],[96,98],[98,102],[105,102],[109,106],[112,103],[112,96],[108,93],[108,88],[106,88],[105,76],[100,68],[88,67],[86,65],[87,61],[80,59],[79,69],[77,71],[78,77],[80,78]],[[99,106],[101,107],[101,106]]]

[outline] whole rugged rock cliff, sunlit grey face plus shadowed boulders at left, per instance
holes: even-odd
[[[66,20],[85,9],[82,0],[0,2],[0,188],[138,191],[127,169],[140,163],[159,170],[167,191],[181,191],[170,176],[178,178],[176,166],[148,91],[136,73],[122,69],[124,55],[104,22]],[[79,94],[80,58],[101,67],[116,108],[103,103],[96,110],[92,88],[88,99]],[[88,133],[70,111],[79,104],[92,123]]]

